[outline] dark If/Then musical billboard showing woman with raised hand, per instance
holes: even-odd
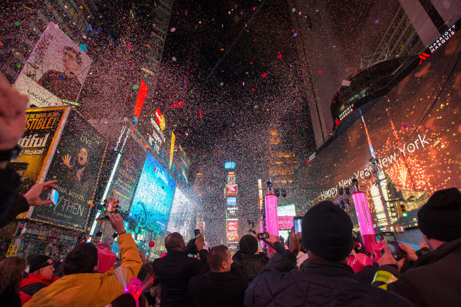
[[[70,110],[45,178],[58,180],[58,203],[34,207],[31,218],[84,230],[106,147],[101,133]]]

